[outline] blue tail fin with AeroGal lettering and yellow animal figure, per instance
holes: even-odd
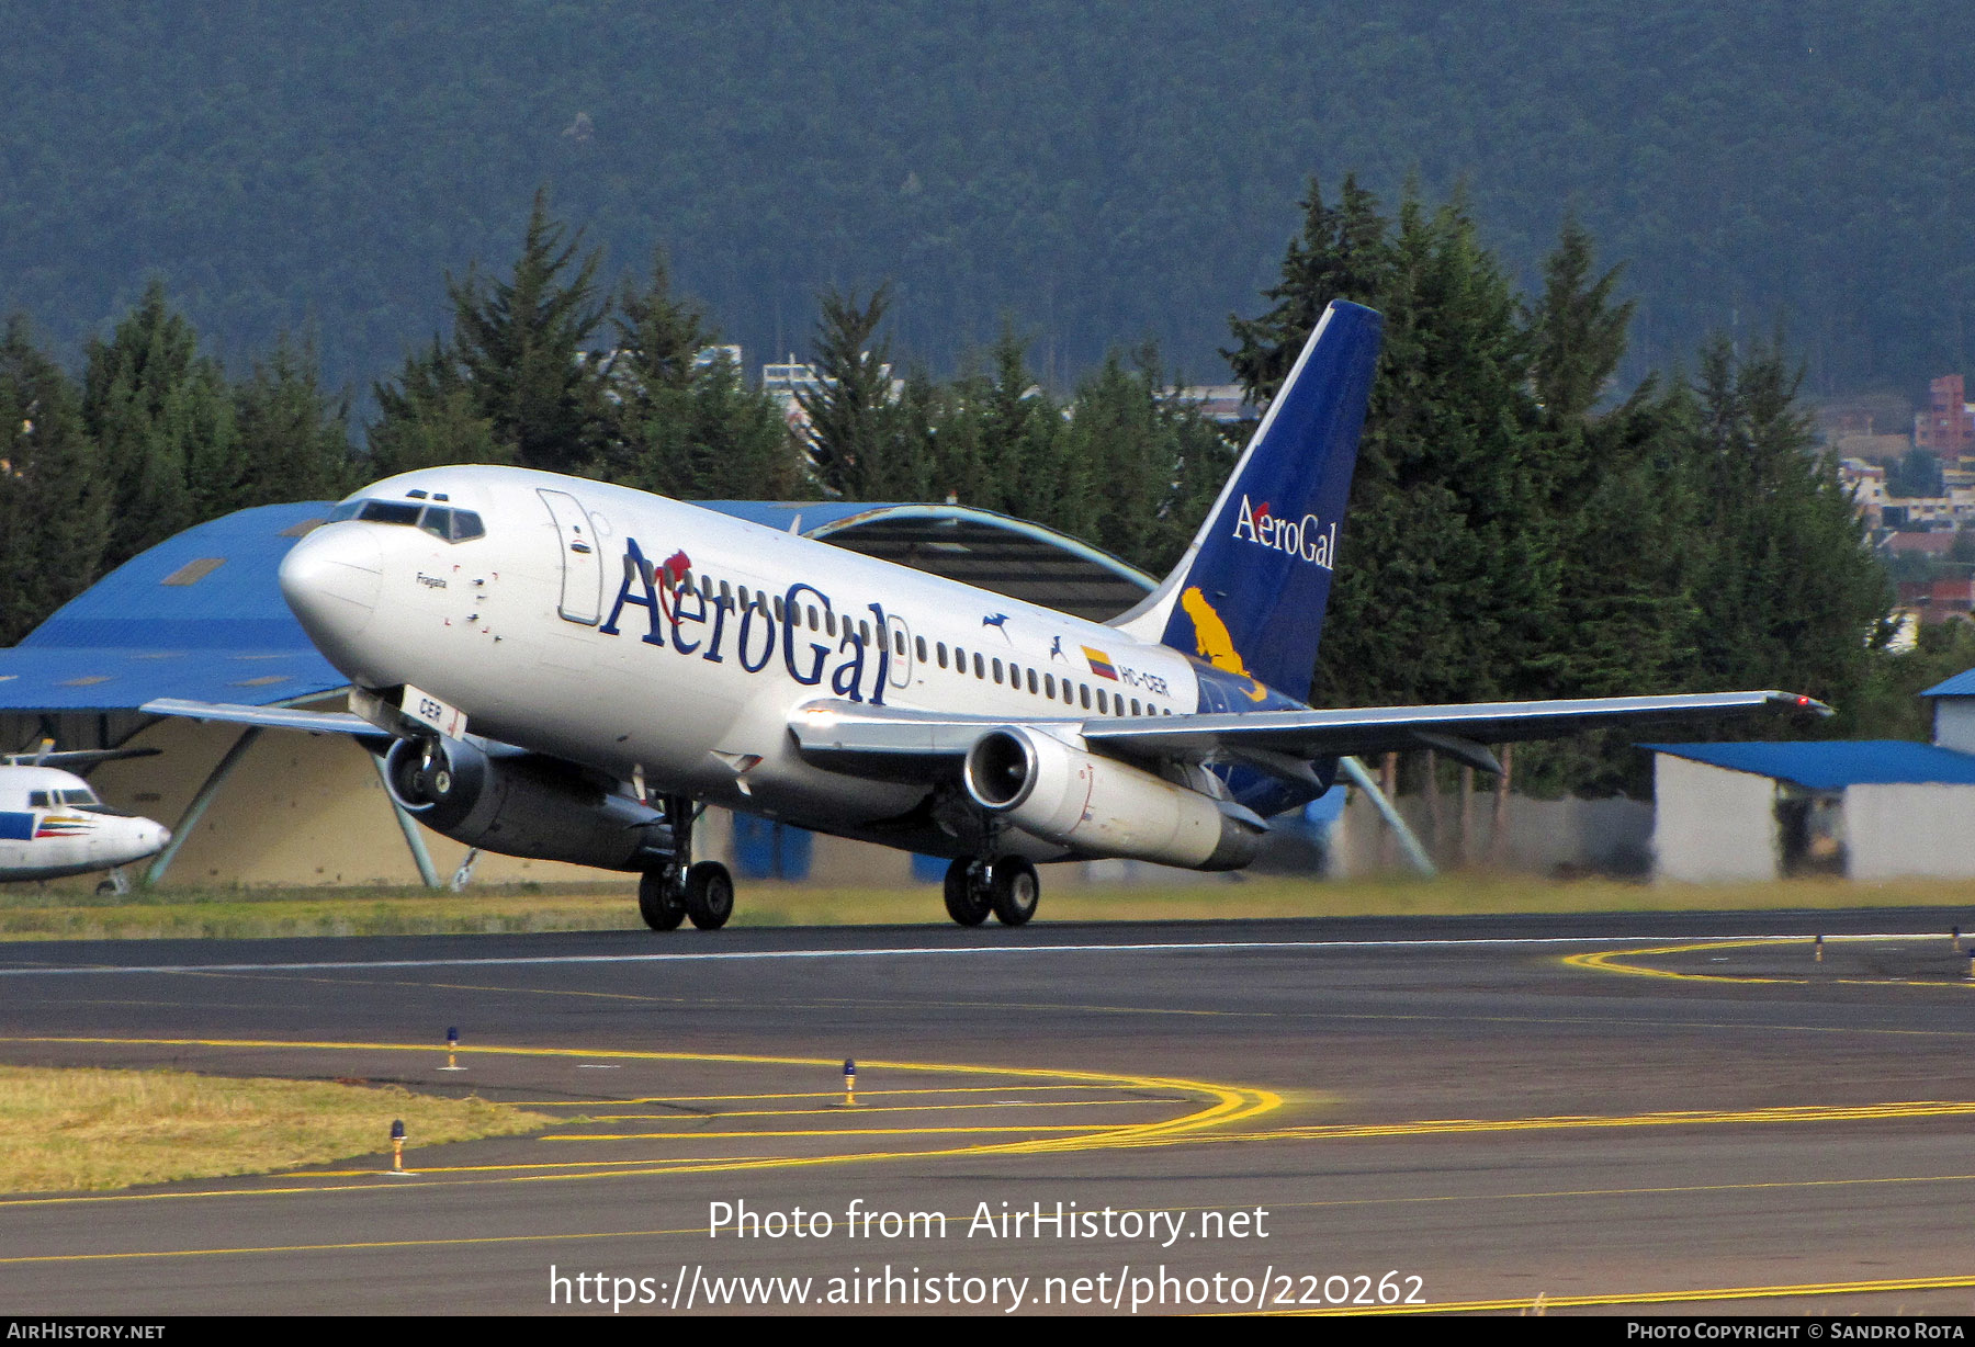
[[[1187,555],[1118,628],[1309,697],[1382,326],[1323,310]]]

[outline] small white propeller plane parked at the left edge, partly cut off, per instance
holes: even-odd
[[[134,818],[97,800],[81,776],[65,766],[93,766],[111,758],[142,758],[156,749],[77,749],[0,756],[0,883],[59,879],[115,869],[158,855],[172,839],[164,824]],[[122,891],[120,875],[111,887]]]

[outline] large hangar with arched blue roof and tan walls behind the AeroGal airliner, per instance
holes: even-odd
[[[1090,618],[1136,604],[1151,577],[1051,529],[966,506],[709,502],[747,519],[932,571]],[[103,798],[174,830],[156,869],[176,885],[433,883],[466,849],[395,812],[375,760],[340,735],[245,733],[235,725],[160,721],[158,697],[282,707],[340,707],[348,683],[294,622],[276,587],[288,547],[330,502],[261,506],[211,519],[152,547],[73,598],[20,646],[0,650],[0,751],[55,739],[61,749],[144,745],[162,756],[91,772]],[[857,843],[816,849],[725,820],[709,849],[739,845],[786,877],[908,881],[908,857]],[[754,841],[750,843],[750,837]],[[758,843],[758,845],[756,845]],[[758,859],[758,857],[756,857]],[[482,881],[598,881],[602,871],[486,855]],[[620,881],[618,877],[610,877]]]

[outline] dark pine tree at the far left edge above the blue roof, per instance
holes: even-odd
[[[101,573],[111,517],[103,456],[75,385],[26,318],[0,336],[0,646],[12,646]]]

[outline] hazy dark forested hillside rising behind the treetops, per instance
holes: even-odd
[[[0,310],[67,361],[156,273],[229,367],[308,330],[361,391],[545,186],[750,363],[891,278],[936,371],[1007,314],[1061,391],[1144,338],[1217,379],[1355,168],[1465,180],[1525,282],[1574,207],[1631,265],[1621,381],[1781,316],[1813,391],[1914,391],[1975,338],[1971,53],[1937,0],[10,6]]]

